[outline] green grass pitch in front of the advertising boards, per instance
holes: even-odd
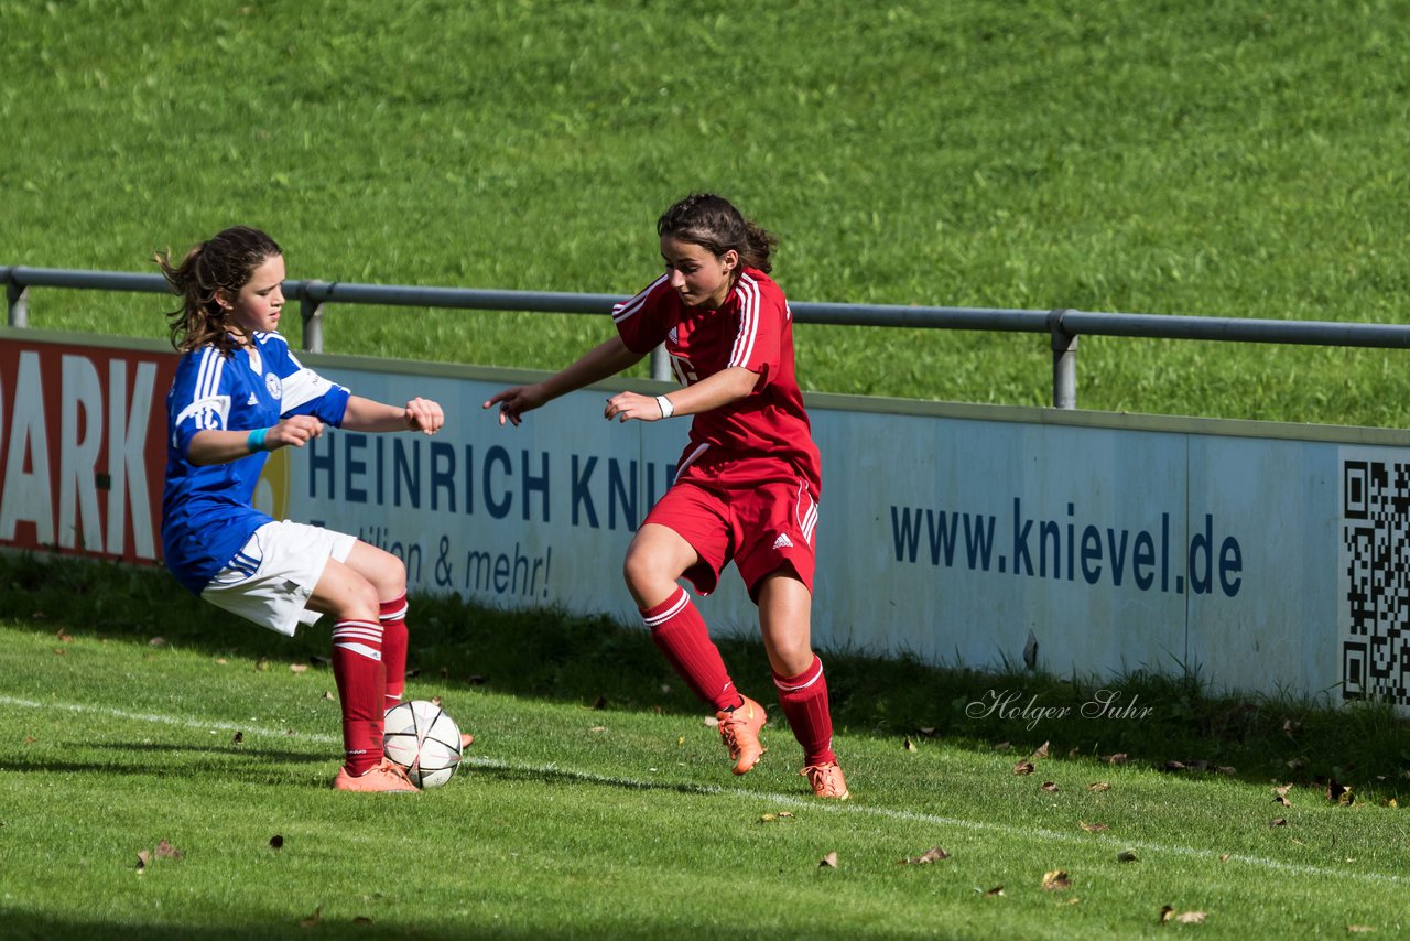
[[[1297,777],[1286,767],[1162,770],[1197,758],[1176,751],[1176,729],[1230,705],[1197,686],[1180,712],[1175,686],[1131,679],[1158,708],[1131,722],[1146,728],[1112,765],[1089,748],[1091,722],[1086,738],[1083,722],[1032,736],[1017,722],[964,731],[960,704],[933,701],[948,683],[980,698],[993,677],[825,655],[854,799],[821,804],[805,797],[777,717],[760,766],[732,777],[701,708],[663,688],[643,632],[570,619],[530,632],[534,615],[420,598],[410,694],[443,697],[475,732],[471,763],[436,791],[360,797],[329,787],[338,743],[333,677],[316,659],[326,635],[288,642],[212,617],[173,598],[159,571],[3,563],[6,937],[1244,938],[1407,927],[1399,786],[1351,769],[1342,780],[1356,800],[1334,803],[1313,780],[1334,756],[1313,755],[1283,807],[1272,789]],[[168,604],[152,608],[157,598]],[[757,645],[728,641],[726,653],[756,684]],[[883,676],[918,697],[880,697],[894,710],[884,718],[866,688]],[[1031,688],[1055,701],[1059,684],[1028,680],[1050,683]],[[955,727],[919,731],[935,721]],[[1406,748],[1403,724],[1341,721],[1342,739]],[[1283,738],[1253,732],[1251,749]],[[1049,756],[1015,775],[1038,739],[1050,739]],[[1203,756],[1228,758],[1227,741],[1201,741]],[[180,858],[158,852],[162,841]],[[898,865],[931,846],[950,858]],[[1136,861],[1118,861],[1124,851]],[[838,866],[819,866],[832,852]],[[1056,869],[1072,886],[1045,890]],[[740,883],[750,889],[725,892]],[[1162,928],[1163,906],[1207,920]]]

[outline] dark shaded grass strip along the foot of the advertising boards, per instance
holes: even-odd
[[[293,639],[261,631],[185,590],[161,569],[0,553],[0,618],[66,631],[274,662],[326,663],[327,628]],[[606,710],[698,715],[701,704],[639,626],[557,609],[501,611],[454,597],[412,600],[409,667],[447,687]],[[770,701],[757,639],[718,638],[736,684]],[[936,667],[916,657],[823,652],[843,735],[939,738],[1015,759],[1124,760],[1183,776],[1354,786],[1361,799],[1410,797],[1410,721],[1389,704],[1217,696],[1197,676],[1135,672],[1055,677]],[[783,714],[773,711],[776,722]]]

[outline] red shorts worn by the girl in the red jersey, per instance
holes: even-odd
[[[643,523],[666,526],[695,549],[699,563],[684,574],[702,595],[715,590],[730,561],[756,602],[759,583],[780,569],[792,571],[812,591],[818,501],[808,481],[785,461],[760,457],[691,464]]]

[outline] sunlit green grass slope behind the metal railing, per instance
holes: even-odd
[[[0,0],[0,264],[627,293],[692,189],[799,300],[1406,322],[1403,0]],[[162,336],[154,296],[32,323]],[[292,324],[290,324],[292,326]],[[557,367],[581,316],[334,308],[331,351]],[[298,340],[298,329],[290,330]],[[1046,403],[1039,336],[809,327],[807,388]],[[1079,403],[1400,426],[1403,353],[1089,339]]]

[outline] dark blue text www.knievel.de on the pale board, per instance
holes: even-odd
[[[1149,529],[1081,521],[1076,504],[1067,504],[1065,519],[1041,519],[1025,515],[1018,497],[1010,519],[891,506],[897,561],[1138,591],[1221,591],[1232,598],[1244,583],[1238,539],[1221,533],[1213,514],[1191,519],[1191,529],[1189,542],[1176,546],[1170,514],[1160,514],[1159,526]]]

